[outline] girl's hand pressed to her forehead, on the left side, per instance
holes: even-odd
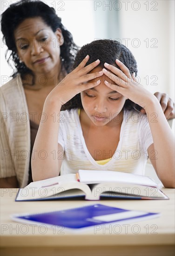
[[[89,60],[89,55],[87,55],[83,61],[52,90],[48,95],[51,101],[58,102],[58,104],[65,104],[67,101],[71,100],[76,94],[81,93],[84,90],[93,88],[101,83],[98,81],[91,81],[94,78],[102,76],[103,71],[88,74],[91,70],[97,67],[100,63],[99,60],[86,66]],[[85,67],[86,66],[86,67]]]

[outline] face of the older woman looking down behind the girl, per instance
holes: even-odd
[[[40,17],[27,18],[14,31],[14,38],[20,60],[34,74],[58,75],[60,45],[63,44],[60,29],[53,32]]]

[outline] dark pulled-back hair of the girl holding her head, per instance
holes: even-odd
[[[90,58],[86,66],[99,59],[100,64],[97,67],[103,68],[105,62],[118,67],[115,62],[115,60],[118,59],[128,67],[130,74],[135,73],[135,76],[137,75],[137,63],[133,54],[127,47],[118,41],[107,39],[94,40],[91,43],[84,45],[75,57],[73,68],[77,67],[87,55],[89,55]],[[120,67],[118,68],[120,69]],[[72,108],[83,108],[81,103],[81,94],[75,95],[74,98],[62,106],[62,110],[70,110]],[[126,100],[124,108],[129,110],[141,110],[139,105],[130,100]]]

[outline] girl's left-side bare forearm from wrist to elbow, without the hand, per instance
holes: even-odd
[[[45,101],[43,119],[40,122],[32,154],[32,177],[34,181],[59,175],[57,159],[58,132],[61,106],[49,99]]]

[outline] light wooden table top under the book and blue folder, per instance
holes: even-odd
[[[97,201],[15,202],[18,189],[0,189],[1,256],[173,256],[175,255],[175,189],[162,189],[170,200],[103,200],[125,209],[160,212],[161,216],[113,228],[72,234],[59,227],[47,228],[11,220],[15,213],[52,211],[89,205]],[[98,201],[99,203],[99,201]]]

